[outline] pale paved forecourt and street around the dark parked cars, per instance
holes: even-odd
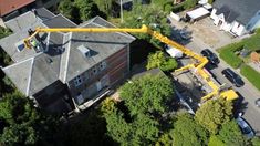
[[[184,44],[186,48],[200,53],[202,49],[211,49],[212,52],[216,52],[216,49],[223,46],[226,44],[239,41],[241,38],[232,38],[226,32],[219,31],[217,27],[210,24],[209,18],[206,20],[200,20],[195,24],[186,24],[183,22],[173,21],[171,25],[174,27],[171,39]],[[191,40],[181,40],[179,36],[179,31],[188,25],[188,30],[191,32]],[[202,27],[201,27],[202,25]],[[202,33],[202,34],[200,34]],[[210,41],[210,38],[211,39]],[[221,71],[223,69],[230,67],[225,61],[221,61],[218,67],[211,69],[210,72],[217,77],[220,83],[226,83],[227,86],[232,86],[235,91],[240,94],[242,101],[235,108],[243,112],[243,118],[251,125],[256,134],[260,136],[260,108],[254,105],[254,101],[260,97],[260,92],[252,86],[252,84],[247,81],[242,75],[245,85],[242,87],[233,86],[226,77],[222,76]],[[231,69],[231,67],[230,67]],[[240,74],[239,71],[233,70],[236,73]]]

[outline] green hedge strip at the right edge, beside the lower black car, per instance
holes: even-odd
[[[260,91],[260,73],[258,71],[243,64],[240,67],[240,73]]]

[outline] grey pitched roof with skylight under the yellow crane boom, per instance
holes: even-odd
[[[117,32],[43,33],[40,36],[42,38],[41,44],[45,50],[44,52],[35,52],[34,50],[18,52],[13,42],[28,36],[27,30],[29,28],[33,30],[37,27],[76,27],[76,24],[60,14],[52,18],[51,15],[44,17],[44,20],[35,19],[31,14],[32,12],[28,12],[20,15],[21,18],[18,17],[15,20],[8,22],[14,30],[14,34],[0,40],[0,45],[17,62],[4,67],[3,72],[25,95],[33,95],[58,80],[63,83],[69,82],[135,40],[134,36],[127,33]],[[21,22],[27,15],[29,19],[34,20],[33,22],[28,22],[28,25]],[[114,25],[96,17],[81,27],[101,28]],[[76,49],[79,45],[89,48],[92,53],[94,52],[93,55],[86,59]]]

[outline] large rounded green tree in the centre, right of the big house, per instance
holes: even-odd
[[[125,101],[131,115],[138,113],[164,113],[167,101],[173,97],[173,84],[163,75],[145,75],[123,85],[119,96]]]

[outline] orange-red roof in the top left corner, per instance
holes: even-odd
[[[22,8],[35,0],[0,0],[0,17]]]

